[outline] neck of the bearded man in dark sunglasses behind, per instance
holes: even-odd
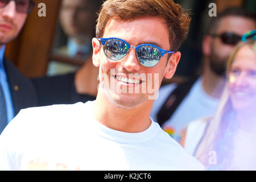
[[[210,97],[220,98],[225,86],[225,78],[216,75],[209,66],[205,66],[203,73],[203,88]]]

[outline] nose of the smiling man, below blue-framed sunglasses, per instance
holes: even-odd
[[[130,48],[128,55],[121,61],[121,66],[128,72],[139,71],[141,65],[137,59],[135,48]]]

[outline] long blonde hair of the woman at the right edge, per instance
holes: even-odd
[[[242,42],[238,44],[238,46],[234,49],[232,54],[229,56],[226,75],[229,75],[230,68],[233,64],[234,57],[237,52],[241,49],[241,47],[249,45],[251,49],[256,54],[256,40],[249,40],[247,42]],[[229,91],[227,84],[225,85],[224,91],[222,93],[220,104],[218,105],[216,114],[212,119],[210,119],[208,123],[208,127],[205,130],[204,136],[199,143],[197,150],[195,152],[195,157],[200,160],[201,163],[205,165],[206,168],[209,167],[209,152],[214,151],[216,144],[219,139],[222,139],[223,132],[221,130],[225,130],[223,125],[228,126],[228,122],[232,122],[230,117],[226,117],[226,115],[231,115],[233,112],[233,106],[230,101]],[[228,121],[227,121],[228,120]],[[226,122],[226,123],[224,123]]]

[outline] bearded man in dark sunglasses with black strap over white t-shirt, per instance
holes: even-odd
[[[210,18],[202,43],[203,74],[159,90],[151,117],[178,142],[189,122],[215,113],[225,84],[228,56],[242,41],[242,35],[255,29],[255,22],[255,14],[241,7],[231,7]]]

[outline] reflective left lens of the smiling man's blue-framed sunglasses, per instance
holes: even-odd
[[[104,44],[105,55],[114,61],[121,60],[128,52],[128,46],[119,39],[108,39]]]

